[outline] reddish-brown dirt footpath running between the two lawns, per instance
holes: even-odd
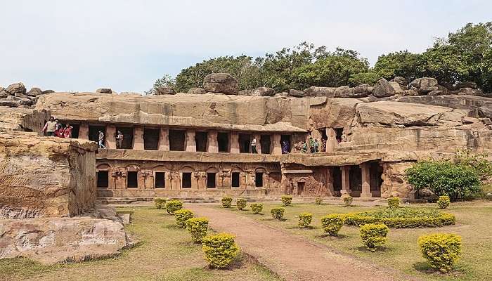
[[[186,208],[209,218],[212,229],[234,234],[242,251],[285,280],[417,280],[352,256],[337,254],[321,244],[232,211],[205,204],[187,204]]]

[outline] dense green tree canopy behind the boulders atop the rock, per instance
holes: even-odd
[[[259,86],[276,91],[309,86],[356,86],[401,76],[408,81],[434,77],[444,86],[473,82],[483,91],[492,92],[492,22],[469,23],[446,38],[436,39],[423,53],[405,50],[382,54],[374,67],[357,51],[342,48],[327,51],[326,46],[316,47],[306,42],[258,58],[248,55],[211,58],[181,70],[176,77],[164,75],[146,93],[155,93],[159,86],[186,92],[202,87],[203,78],[217,72],[238,79],[240,90]]]

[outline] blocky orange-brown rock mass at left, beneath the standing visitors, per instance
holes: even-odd
[[[0,134],[0,218],[76,216],[96,200],[96,144]]]

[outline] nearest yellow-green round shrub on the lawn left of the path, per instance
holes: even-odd
[[[238,254],[239,247],[233,235],[219,233],[203,237],[202,251],[212,268],[226,268]]]

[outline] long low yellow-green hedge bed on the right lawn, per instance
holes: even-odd
[[[345,214],[345,224],[361,226],[367,223],[384,223],[390,228],[419,228],[425,226],[448,226],[456,223],[453,214],[435,209],[386,208],[377,211],[363,211]]]

